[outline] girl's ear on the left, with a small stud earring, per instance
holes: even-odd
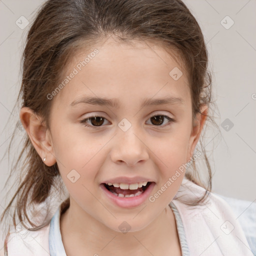
[[[46,125],[37,114],[29,107],[22,107],[19,112],[20,121],[29,136],[31,143],[39,156],[45,156],[46,165],[51,166],[56,162],[53,154],[51,135]]]

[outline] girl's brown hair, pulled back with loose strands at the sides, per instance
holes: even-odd
[[[193,114],[200,111],[201,104],[210,106],[213,103],[204,37],[196,19],[181,0],[47,0],[27,34],[22,55],[22,83],[17,100],[21,99],[22,106],[31,108],[42,117],[49,128],[52,100],[47,99],[47,94],[61,80],[68,60],[81,44],[93,46],[109,35],[124,42],[152,40],[170,51],[174,49],[186,67]],[[214,123],[207,114],[209,119]],[[13,132],[8,152],[17,128]],[[200,179],[194,161],[193,171],[185,175],[203,186],[206,195],[207,190],[211,190],[211,168],[201,137],[199,143],[208,170],[207,184]],[[46,166],[25,132],[23,148],[10,175],[17,169],[22,155],[26,158],[19,168],[20,183],[4,209],[1,221],[16,198],[12,214],[14,226],[17,212],[19,221],[26,219],[35,226],[29,229],[37,230],[49,221],[34,225],[27,215],[27,205],[45,202],[51,195],[52,187],[61,188],[61,178],[57,164]]]

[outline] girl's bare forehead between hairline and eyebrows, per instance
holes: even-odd
[[[90,50],[81,47],[70,59],[62,81],[66,75],[75,74],[54,100],[61,98],[62,103],[70,105],[81,95],[111,95],[120,102],[126,98],[134,103],[135,99],[171,96],[189,104],[186,70],[176,57],[174,51],[170,55],[150,41],[120,43],[110,38]]]

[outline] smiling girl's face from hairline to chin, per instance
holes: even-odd
[[[49,99],[47,157],[57,162],[72,212],[116,231],[140,230],[168,207],[201,130],[192,126],[185,70],[163,48],[134,43],[110,38],[80,51]],[[126,189],[143,181],[150,185],[142,193]],[[115,195],[108,182],[125,191],[112,188]]]

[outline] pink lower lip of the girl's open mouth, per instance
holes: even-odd
[[[151,191],[153,190],[155,183],[151,182],[151,184],[147,187],[147,189],[141,193],[138,196],[133,196],[133,197],[119,197],[117,195],[114,195],[111,193],[107,188],[104,186],[104,184],[100,184],[100,187],[106,194],[110,200],[112,200],[116,205],[123,207],[123,208],[130,208],[130,207],[136,207],[140,204],[142,204],[146,198],[149,197]]]

